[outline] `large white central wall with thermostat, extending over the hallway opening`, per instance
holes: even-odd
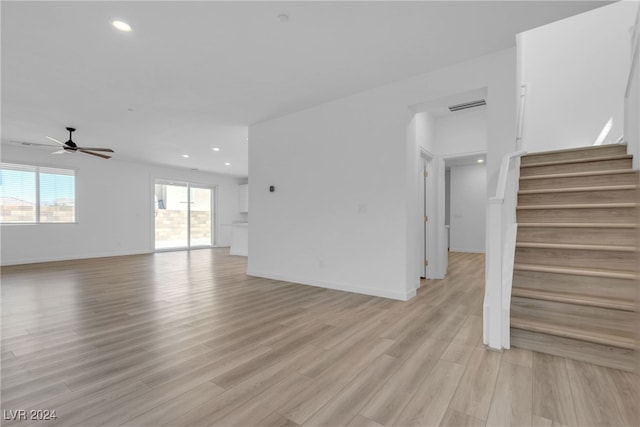
[[[409,106],[482,87],[495,185],[515,148],[514,49],[252,126],[249,274],[412,297],[421,170]]]

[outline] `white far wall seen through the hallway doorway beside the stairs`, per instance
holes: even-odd
[[[451,250],[485,251],[487,168],[484,165],[451,168]]]

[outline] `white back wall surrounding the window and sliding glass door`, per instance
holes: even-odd
[[[1,264],[152,252],[156,178],[218,186],[218,245],[228,246],[237,218],[236,178],[83,155],[52,156],[37,148],[2,147],[2,161],[76,170],[75,224],[5,224]]]

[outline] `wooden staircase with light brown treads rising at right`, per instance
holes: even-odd
[[[636,370],[638,174],[625,145],[522,157],[511,345]]]

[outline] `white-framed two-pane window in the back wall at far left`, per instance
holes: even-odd
[[[0,163],[0,223],[76,220],[75,171]]]

